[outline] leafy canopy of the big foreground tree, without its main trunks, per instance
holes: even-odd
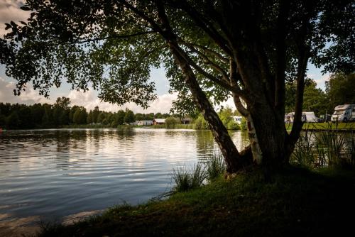
[[[297,76],[302,49],[309,50],[310,61],[325,65],[326,71],[354,72],[353,1],[161,2],[202,89],[216,103],[230,95],[221,83],[230,76],[231,54],[224,47],[228,44],[248,57],[251,42],[260,41],[268,73],[277,77],[278,68],[284,68],[288,81]],[[160,1],[26,1],[22,9],[32,11],[28,22],[7,23],[12,31],[1,40],[1,63],[6,64],[7,75],[18,81],[15,94],[32,82],[40,94],[48,96],[50,87],[66,81],[73,89],[86,90],[92,85],[104,101],[133,101],[147,107],[156,98],[154,83],[149,80],[151,67],[163,65],[171,92],[179,93],[174,108],[182,114],[194,111],[184,76],[158,30],[157,3]],[[249,13],[255,24],[249,23]],[[260,31],[249,29],[254,25]],[[280,58],[285,65],[280,65]],[[246,88],[245,83],[238,81],[241,89]]]

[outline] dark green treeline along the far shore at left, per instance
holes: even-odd
[[[0,128],[60,128],[70,124],[99,123],[116,128],[121,124],[133,123],[153,118],[168,118],[170,114],[134,114],[133,111],[119,110],[115,113],[94,110],[87,111],[83,106],[70,106],[70,99],[58,97],[55,104],[9,104],[0,103]]]

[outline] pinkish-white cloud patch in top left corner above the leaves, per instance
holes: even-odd
[[[23,1],[20,0],[0,0],[0,37],[9,31],[5,31],[5,23],[10,21],[27,21],[30,11],[22,11]]]

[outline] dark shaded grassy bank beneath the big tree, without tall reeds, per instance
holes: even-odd
[[[354,185],[354,172],[329,169],[219,177],[164,201],[47,226],[40,236],[342,236],[352,231]]]

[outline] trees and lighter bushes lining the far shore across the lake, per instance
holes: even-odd
[[[196,114],[190,124],[180,123],[179,114],[134,114],[133,111],[119,110],[107,112],[99,110],[87,110],[83,106],[70,106],[70,99],[58,97],[55,104],[9,104],[0,102],[0,128],[5,129],[33,129],[33,128],[127,128],[133,127],[134,121],[165,118],[165,124],[153,125],[151,128],[182,128],[182,129],[208,129],[208,124],[203,116]],[[230,108],[221,109],[219,116],[228,129],[246,130],[239,126],[232,116],[235,112]]]

